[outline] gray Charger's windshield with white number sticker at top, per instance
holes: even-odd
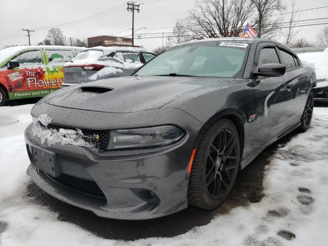
[[[232,42],[177,46],[154,57],[135,75],[237,77],[247,46],[246,43]]]

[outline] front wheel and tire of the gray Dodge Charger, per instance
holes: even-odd
[[[189,178],[188,203],[216,209],[227,200],[237,177],[240,160],[238,132],[221,118],[204,133],[197,147]]]

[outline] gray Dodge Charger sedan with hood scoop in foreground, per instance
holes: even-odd
[[[27,173],[101,217],[215,209],[263,149],[310,127],[313,85],[315,72],[272,40],[179,44],[133,76],[41,99],[25,131]]]

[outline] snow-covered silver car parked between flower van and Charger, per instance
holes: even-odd
[[[80,52],[64,66],[62,86],[129,76],[156,54],[136,47],[94,47]]]

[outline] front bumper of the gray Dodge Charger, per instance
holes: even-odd
[[[197,128],[201,127],[199,121],[193,121]],[[188,122],[191,124],[191,118]],[[25,131],[31,162],[33,146],[52,151],[62,174],[94,182],[104,195],[67,186],[31,163],[27,174],[51,196],[98,216],[115,219],[151,219],[187,208],[187,170],[196,142],[193,132],[171,148],[156,152],[125,151],[122,155],[111,151],[96,153],[71,145],[48,146],[33,136],[32,127],[31,124]]]

